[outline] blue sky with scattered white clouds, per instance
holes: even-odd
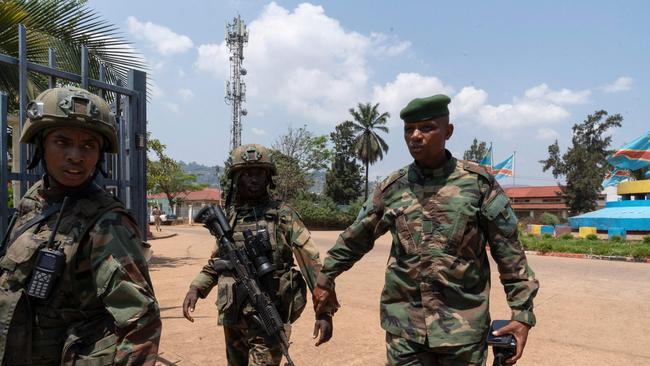
[[[551,185],[539,160],[572,126],[604,109],[623,116],[621,147],[650,129],[647,1],[90,0],[150,65],[148,129],[185,162],[223,165],[231,107],[225,25],[249,31],[242,142],[272,145],[289,128],[329,135],[358,103],[390,113],[390,148],[371,180],[412,161],[399,111],[451,97],[457,157],[474,138],[498,163],[516,151],[515,179]],[[645,97],[644,97],[645,95]]]

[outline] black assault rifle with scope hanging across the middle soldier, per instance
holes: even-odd
[[[278,310],[271,301],[269,295],[260,288],[260,271],[258,263],[251,261],[245,248],[237,248],[232,240],[232,229],[228,224],[226,215],[219,206],[208,205],[203,207],[194,217],[194,222],[203,224],[210,233],[220,242],[220,253],[222,259],[212,258],[210,264],[217,272],[230,270],[238,286],[241,286],[246,293],[250,304],[256,314],[253,319],[264,329],[264,332],[280,344],[282,354],[287,359],[285,366],[295,366],[289,356],[289,340],[284,330],[284,324]]]

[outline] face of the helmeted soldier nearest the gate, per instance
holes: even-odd
[[[82,185],[95,171],[101,143],[93,133],[74,127],[52,130],[43,141],[50,184],[69,188]]]

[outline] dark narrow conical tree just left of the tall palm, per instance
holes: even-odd
[[[338,204],[348,204],[359,197],[363,176],[356,161],[352,122],[343,122],[330,133],[334,160],[325,175],[325,194]]]

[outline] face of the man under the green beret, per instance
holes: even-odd
[[[420,165],[438,168],[445,163],[445,143],[454,133],[449,117],[405,123],[404,140],[411,156]]]

